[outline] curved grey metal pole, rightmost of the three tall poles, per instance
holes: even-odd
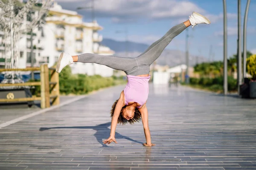
[[[247,18],[248,18],[248,11],[250,6],[250,0],[247,0],[246,10],[244,14],[244,35],[243,35],[243,51],[244,51],[244,64],[243,64],[243,78],[246,78],[246,58],[247,58],[247,48],[246,48],[246,38],[247,38]]]

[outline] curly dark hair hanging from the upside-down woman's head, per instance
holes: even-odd
[[[116,103],[117,103],[118,100],[116,100],[114,102],[114,104],[112,105],[112,108],[111,108],[111,111],[110,111],[110,117],[112,118],[113,115],[114,115],[114,111],[115,111],[115,108],[116,108]],[[124,107],[122,107],[122,110],[120,112],[120,115],[117,119],[117,123],[119,123],[120,125],[125,125],[127,123],[130,123],[131,125],[134,124],[135,122],[140,122],[141,121],[141,114],[140,114],[140,111],[138,110],[138,108],[135,108],[135,112],[134,112],[134,117],[130,120],[127,120],[125,118],[123,118],[122,116],[122,112],[123,112],[123,109],[126,108],[126,105]]]

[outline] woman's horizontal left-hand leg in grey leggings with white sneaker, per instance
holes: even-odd
[[[125,72],[131,70],[134,66],[137,66],[134,58],[117,57],[113,55],[98,55],[90,53],[71,56],[69,54],[61,53],[56,65],[56,71],[60,73],[66,65],[73,64],[73,62],[96,63]]]

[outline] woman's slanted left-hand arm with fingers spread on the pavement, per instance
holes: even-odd
[[[118,120],[118,117],[119,117],[120,112],[122,110],[122,107],[124,106],[123,98],[124,98],[124,95],[123,95],[123,91],[122,91],[121,94],[120,94],[120,97],[119,97],[119,99],[116,103],[114,114],[113,114],[113,117],[111,119],[110,137],[107,140],[103,141],[104,144],[106,144],[106,143],[110,144],[111,142],[117,143],[116,139],[115,139],[116,125],[117,125],[117,120]]]

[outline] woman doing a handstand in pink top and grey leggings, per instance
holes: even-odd
[[[115,139],[117,123],[124,125],[127,122],[132,124],[142,120],[146,138],[144,145],[155,145],[151,144],[150,130],[148,127],[148,110],[146,107],[150,65],[160,56],[164,48],[166,48],[174,37],[187,27],[194,27],[201,23],[210,24],[210,21],[201,14],[193,12],[191,16],[189,16],[189,20],[172,27],[160,40],[154,42],[146,51],[135,58],[89,53],[71,56],[61,53],[56,65],[56,71],[58,73],[60,73],[66,65],[73,64],[73,62],[84,62],[106,65],[116,70],[125,71],[127,74],[128,83],[121,92],[119,99],[116,100],[112,106],[110,137],[103,141],[104,144],[110,144],[111,142],[117,143]]]

